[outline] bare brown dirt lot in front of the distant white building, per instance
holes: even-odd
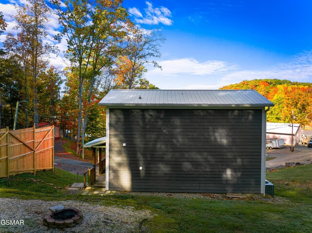
[[[294,146],[291,152],[290,146],[267,150],[267,159],[275,158],[266,162],[267,168],[284,167],[286,162],[312,163],[312,148],[307,145]]]

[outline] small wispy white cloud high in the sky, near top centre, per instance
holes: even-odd
[[[147,8],[145,8],[145,16],[136,8],[129,8],[129,14],[135,17],[135,21],[140,24],[157,25],[162,23],[164,25],[172,25],[173,20],[169,17],[171,16],[171,11],[161,6],[159,8],[153,8],[153,4],[146,1]]]

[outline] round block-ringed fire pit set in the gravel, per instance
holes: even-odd
[[[64,208],[59,213],[48,211],[43,216],[43,225],[54,228],[74,227],[83,219],[82,212],[77,208]]]

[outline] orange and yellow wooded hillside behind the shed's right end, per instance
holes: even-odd
[[[294,123],[303,128],[312,126],[312,83],[299,83],[279,79],[254,79],[224,86],[229,89],[254,89],[273,102],[274,107],[267,113],[268,122]]]

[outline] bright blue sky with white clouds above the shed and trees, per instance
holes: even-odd
[[[24,3],[0,0],[7,32],[13,5]],[[311,0],[124,0],[123,6],[140,27],[167,38],[157,59],[163,70],[148,66],[145,75],[161,89],[218,89],[255,78],[312,82]],[[50,19],[52,37],[58,22]],[[58,46],[66,49],[64,41]],[[64,66],[61,56],[51,58]]]

